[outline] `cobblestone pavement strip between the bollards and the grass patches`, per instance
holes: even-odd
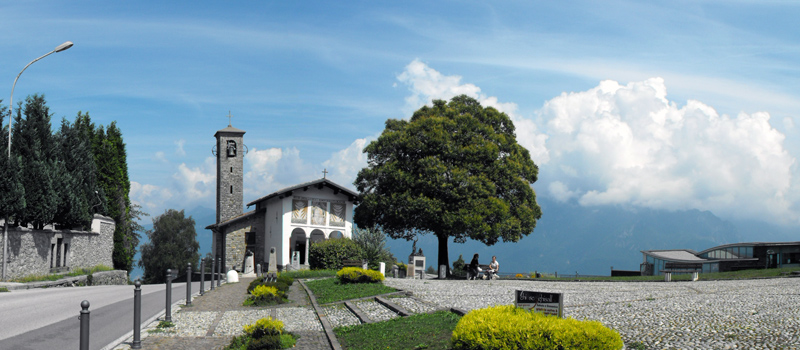
[[[263,317],[274,317],[283,321],[286,330],[299,336],[294,349],[330,349],[322,326],[309,304],[305,290],[294,283],[288,298],[290,303],[273,307],[243,306],[247,298],[247,286],[253,278],[241,278],[238,283],[223,284],[195,297],[192,306],[179,307],[173,311],[174,328],[165,332],[154,332],[158,321],[142,330],[142,349],[147,350],[212,350],[222,349],[231,339],[242,334],[242,327]],[[115,347],[115,350],[130,349],[130,342]]]

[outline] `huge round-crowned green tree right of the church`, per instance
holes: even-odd
[[[364,152],[354,221],[395,239],[434,234],[439,265],[449,266],[450,237],[517,242],[542,215],[531,188],[538,167],[517,143],[511,119],[468,96],[435,100],[410,121],[386,121]]]

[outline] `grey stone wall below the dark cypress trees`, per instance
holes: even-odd
[[[50,274],[59,256],[66,258],[62,257],[61,270],[113,267],[114,227],[114,220],[102,215],[94,216],[92,231],[9,227],[7,259],[0,248],[0,262],[8,261],[6,279]],[[0,235],[0,247],[2,240]]]

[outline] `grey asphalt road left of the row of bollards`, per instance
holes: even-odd
[[[200,291],[192,283],[192,294]],[[206,281],[205,288],[210,288]],[[0,350],[79,349],[81,301],[90,303],[89,348],[102,349],[133,330],[129,286],[47,288],[0,293]],[[142,322],[163,312],[166,285],[142,286]],[[186,298],[186,283],[172,286],[172,303]]]

